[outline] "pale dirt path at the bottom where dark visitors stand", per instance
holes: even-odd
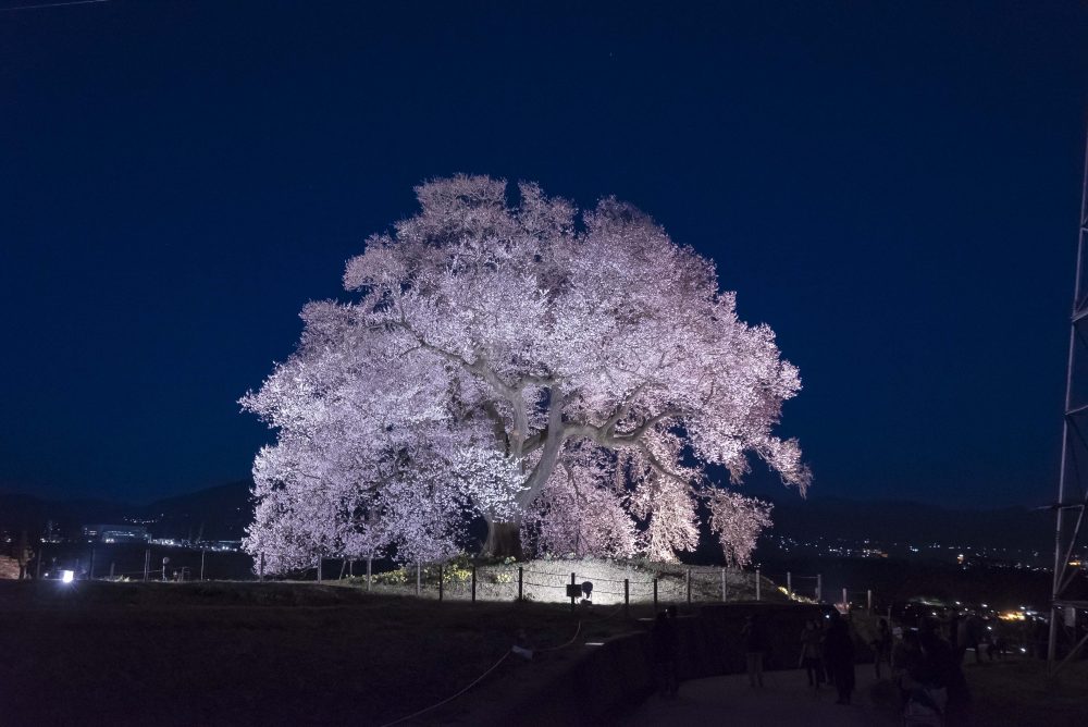
[[[625,725],[733,725],[735,727],[883,727],[902,722],[869,699],[876,679],[871,667],[857,667],[853,704],[836,704],[834,689],[813,695],[801,669],[768,671],[764,688],[752,689],[747,676],[695,679],[680,685],[676,700],[652,697]]]

